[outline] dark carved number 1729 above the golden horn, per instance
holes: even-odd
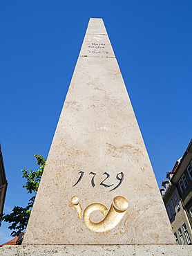
[[[77,182],[73,185],[73,187],[75,187],[75,185],[77,185],[77,184],[81,181],[81,179],[83,178],[83,176],[84,176],[84,172],[82,172],[82,171],[79,172],[79,174],[80,174],[79,179],[78,179]],[[90,183],[91,183],[91,185],[92,185],[93,188],[94,188],[94,187],[95,187],[95,175],[97,175],[97,174],[95,174],[95,172],[90,172],[90,174],[93,175],[93,177],[92,177]],[[110,174],[108,174],[107,172],[104,172],[103,175],[106,175],[106,178],[105,178],[99,185],[103,185],[105,188],[109,188],[109,187],[113,186],[114,184],[108,185],[108,184],[104,183],[104,181],[106,181],[106,180],[110,177]],[[123,182],[123,180],[124,180],[124,173],[123,173],[123,172],[119,172],[119,174],[117,174],[117,176],[116,176],[116,179],[117,179],[117,181],[119,181],[119,183],[115,186],[115,188],[113,188],[112,190],[109,190],[109,192],[110,192],[110,191],[113,191],[113,190],[116,190],[116,188],[118,188],[119,185],[122,184],[122,182]]]

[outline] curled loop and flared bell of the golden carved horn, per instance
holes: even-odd
[[[111,208],[107,214],[107,208],[101,203],[88,205],[86,210],[84,210],[84,221],[89,230],[106,232],[115,228],[115,226],[122,220],[124,214],[126,214],[126,209],[128,208],[128,201],[123,196],[116,196],[113,201],[114,205],[113,203],[111,204]],[[95,210],[99,210],[104,215],[106,214],[106,217],[97,223],[90,221],[90,214]]]

